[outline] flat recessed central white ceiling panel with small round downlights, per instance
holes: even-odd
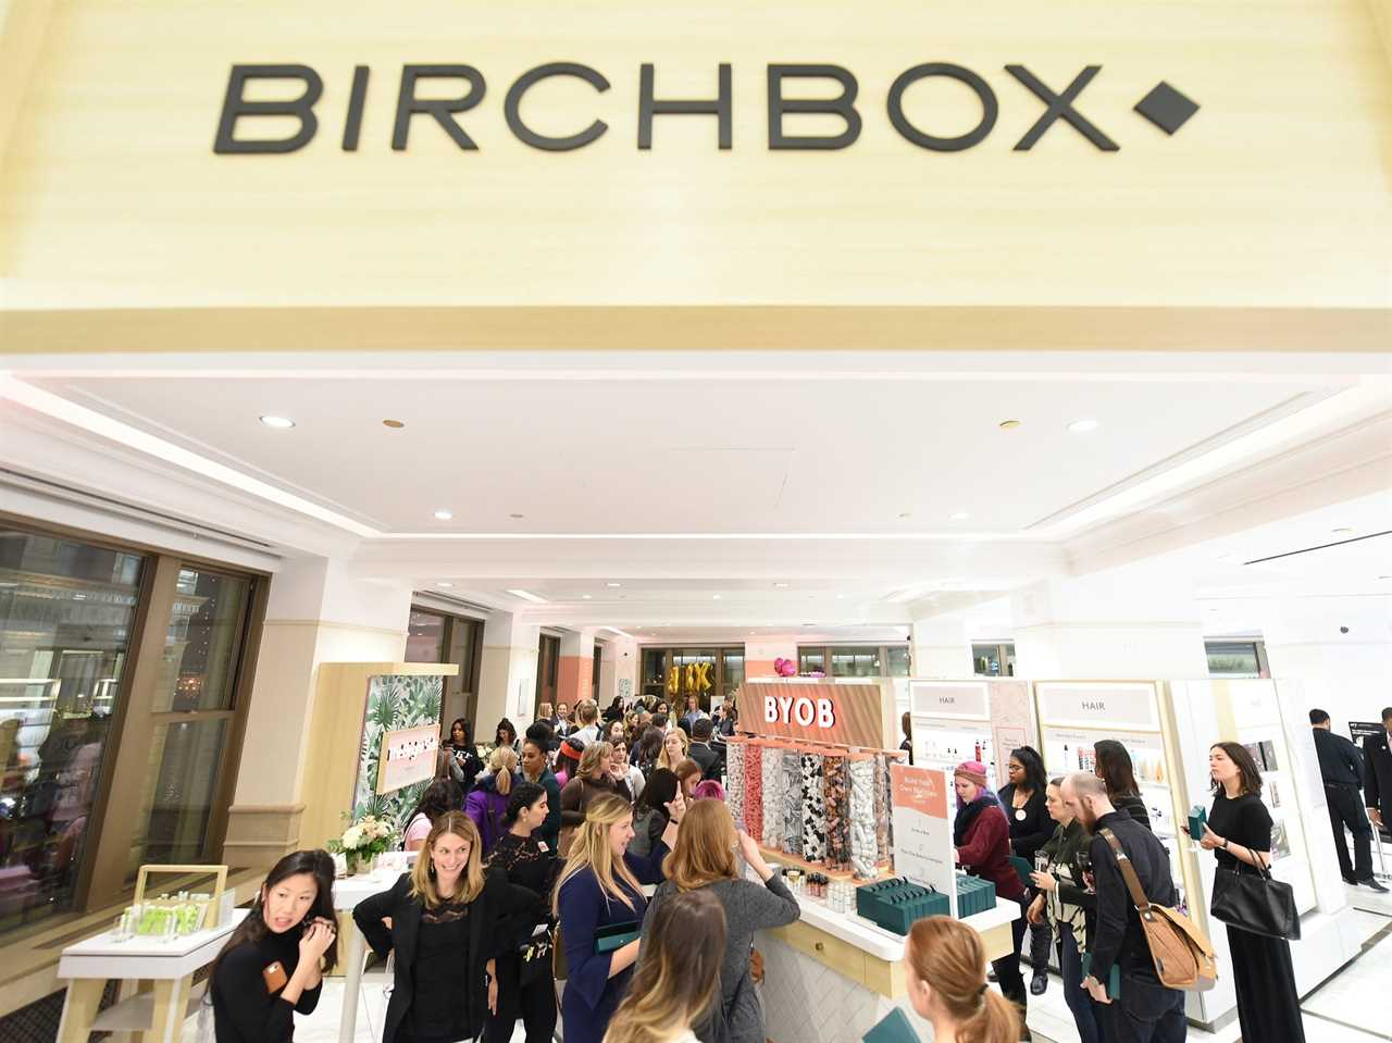
[[[781,380],[742,382],[39,386],[387,533],[1011,533],[1315,390],[1226,379],[809,383],[796,365]],[[271,430],[258,422],[267,414],[296,426]],[[390,430],[387,418],[406,426]],[[1066,430],[1084,418],[1098,430]],[[1006,419],[1022,426],[1001,430]],[[454,518],[434,519],[440,508]]]

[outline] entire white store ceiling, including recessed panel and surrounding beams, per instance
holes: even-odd
[[[1334,528],[1392,529],[1384,358],[590,352],[561,365],[26,359],[0,375],[0,465],[284,553],[327,553],[306,540],[317,529],[359,577],[643,641],[898,639],[938,597],[974,599],[973,620],[1004,631],[1002,595],[1087,571],[1087,540],[1107,544],[1105,567],[1164,553],[1211,599],[1377,590],[1392,572],[1386,539],[1243,564],[1347,539]],[[296,426],[271,430],[264,414]],[[1068,432],[1084,418],[1098,429]]]

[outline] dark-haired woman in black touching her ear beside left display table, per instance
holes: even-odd
[[[319,1005],[322,975],[338,962],[334,859],[295,851],[277,862],[209,978],[217,1043],[291,1043],[294,1014]]]

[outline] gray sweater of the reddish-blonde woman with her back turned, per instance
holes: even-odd
[[[728,1035],[721,1043],[764,1043],[764,1012],[754,993],[754,979],[749,972],[749,954],[754,946],[754,932],[768,927],[782,927],[802,913],[782,873],[768,877],[768,884],[753,880],[717,880],[706,884],[711,894],[720,898],[725,908],[725,958],[720,965],[720,993]],[[653,912],[665,900],[678,894],[677,884],[667,880],[657,888],[647,904],[643,918],[643,936],[639,941],[638,962],[643,962],[647,946],[647,930]],[[710,1022],[693,1025],[700,1043],[717,1039],[715,1026]]]

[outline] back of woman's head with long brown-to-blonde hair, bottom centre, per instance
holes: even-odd
[[[717,1000],[725,911],[710,891],[690,891],[654,909],[643,926],[643,965],[604,1043],[696,1043],[692,1024]]]

